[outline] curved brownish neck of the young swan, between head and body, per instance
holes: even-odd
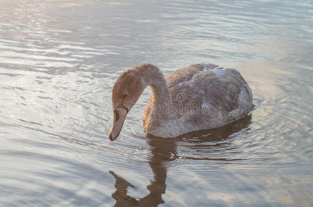
[[[162,119],[175,117],[169,110],[171,107],[171,95],[161,70],[151,64],[144,64],[138,70],[140,70],[146,85],[151,87],[152,96],[150,101],[152,101],[154,106],[153,114]]]

